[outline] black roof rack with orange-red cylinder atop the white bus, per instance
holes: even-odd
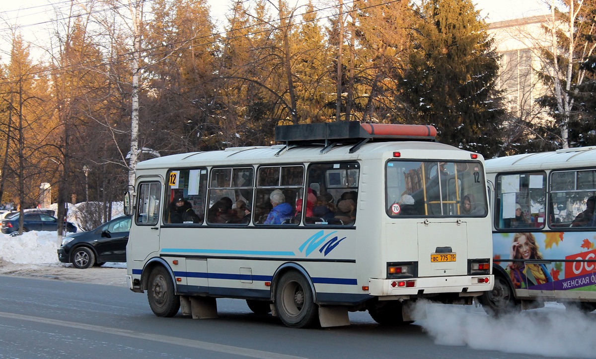
[[[398,125],[389,123],[323,122],[304,125],[275,126],[275,141],[292,145],[324,144],[326,152],[337,144],[355,143],[350,153],[368,141],[435,141],[436,128],[430,125]],[[281,151],[280,151],[281,152]]]

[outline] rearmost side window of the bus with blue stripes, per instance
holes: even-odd
[[[357,162],[313,163],[308,169],[306,225],[354,225],[358,208]],[[312,197],[311,193],[312,192]]]

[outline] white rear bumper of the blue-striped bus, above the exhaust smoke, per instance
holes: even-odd
[[[488,278],[488,283],[486,283]],[[368,280],[368,293],[373,296],[424,296],[440,293],[460,293],[460,296],[479,296],[492,290],[495,276],[457,276],[457,277],[425,277]],[[387,299],[394,299],[387,298]]]

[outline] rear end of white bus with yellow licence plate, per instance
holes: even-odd
[[[378,296],[368,305],[371,316],[379,322],[407,320],[399,314],[402,301],[471,304],[491,290],[482,157],[443,144],[414,143],[393,151],[384,169],[383,268],[377,268],[380,277],[370,279],[370,294]]]

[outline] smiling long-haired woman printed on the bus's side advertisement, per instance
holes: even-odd
[[[516,233],[511,243],[510,256],[512,259],[543,259],[536,239],[532,233]],[[527,263],[524,261],[511,262],[509,276],[516,289],[524,289],[538,284],[552,281],[547,266],[538,263]]]

